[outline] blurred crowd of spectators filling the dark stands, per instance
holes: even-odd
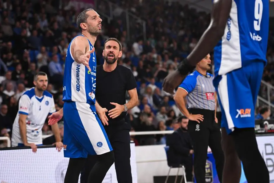
[[[116,3],[111,6],[110,2]],[[176,130],[181,112],[173,96],[162,90],[162,81],[174,72],[209,25],[210,15],[179,2],[164,0],[96,1],[102,34],[95,43],[97,64],[102,64],[104,41],[118,38],[123,55],[119,64],[132,70],[138,84],[139,106],[128,111],[132,131]],[[154,7],[154,8],[150,8]],[[134,20],[126,20],[125,11]],[[69,42],[79,29],[79,11],[65,0],[0,0],[0,136],[10,136],[22,93],[33,87],[37,71],[48,74],[47,91],[56,110],[63,107],[62,77]],[[103,16],[102,16],[103,15]],[[108,18],[108,17],[111,17]],[[127,22],[127,23],[126,23]],[[130,22],[130,23],[129,23]],[[268,66],[263,80],[274,84],[274,34],[269,32]],[[205,45],[206,46],[206,45]],[[212,61],[214,55],[211,53]],[[274,103],[274,90],[262,86],[260,96]],[[128,97],[129,99],[129,97]],[[258,115],[260,106],[257,109]],[[220,112],[220,109],[217,109]],[[271,115],[270,110],[268,110]],[[62,128],[62,125],[60,125]],[[51,134],[47,122],[43,134]],[[137,137],[136,137],[137,138]],[[136,145],[164,144],[163,135],[132,137]],[[1,144],[0,147],[5,146]]]

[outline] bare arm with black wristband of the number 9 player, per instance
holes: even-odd
[[[183,81],[184,77],[195,68],[195,65],[200,60],[213,50],[224,34],[232,1],[214,0],[209,27],[193,51],[178,65],[177,70],[164,79],[164,91],[173,94],[174,89]]]

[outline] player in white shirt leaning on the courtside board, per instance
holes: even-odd
[[[33,152],[42,144],[42,127],[48,116],[55,112],[53,96],[47,89],[47,74],[38,72],[33,81],[35,87],[25,91],[19,99],[19,110],[12,127],[12,146],[30,146]],[[63,147],[58,125],[52,126],[56,148]]]

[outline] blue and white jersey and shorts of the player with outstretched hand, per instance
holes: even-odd
[[[64,156],[86,158],[87,154],[110,152],[112,147],[95,109],[95,52],[90,55],[90,72],[72,56],[71,44],[75,38],[68,45],[63,81]],[[92,50],[93,45],[86,40]]]

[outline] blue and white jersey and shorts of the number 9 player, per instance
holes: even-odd
[[[225,33],[214,49],[221,126],[230,133],[255,127],[254,108],[261,84],[269,31],[269,0],[233,0]]]

